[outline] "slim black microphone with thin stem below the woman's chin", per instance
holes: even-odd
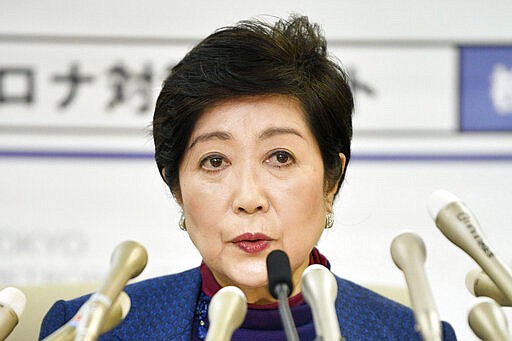
[[[297,328],[293,321],[288,296],[292,293],[292,270],[290,260],[284,251],[274,250],[267,256],[268,290],[278,300],[279,315],[284,326],[286,338],[292,341],[299,341]]]

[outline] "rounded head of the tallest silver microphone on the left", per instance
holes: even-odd
[[[130,278],[140,275],[148,263],[148,253],[144,246],[133,241],[127,240],[119,244],[110,259],[113,267],[122,266],[130,274]]]

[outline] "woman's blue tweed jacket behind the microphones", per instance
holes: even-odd
[[[411,309],[355,283],[336,279],[336,312],[347,341],[421,340],[414,330]],[[100,340],[190,340],[200,290],[199,268],[128,285],[125,291],[131,299],[130,312]],[[43,320],[40,339],[71,319],[87,298],[56,302]],[[447,323],[443,323],[443,333],[444,340],[456,340]]]

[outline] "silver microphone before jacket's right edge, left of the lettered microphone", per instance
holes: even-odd
[[[426,254],[425,243],[416,233],[403,232],[391,242],[391,257],[404,273],[417,330],[423,340],[442,340],[441,319],[424,267]]]

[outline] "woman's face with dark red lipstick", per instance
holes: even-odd
[[[324,193],[320,150],[294,99],[234,99],[206,110],[179,179],[187,231],[219,284],[265,301],[266,257],[281,249],[298,287],[333,193]]]

